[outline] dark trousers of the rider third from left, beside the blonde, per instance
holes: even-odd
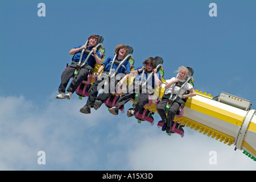
[[[129,86],[128,90],[122,93],[122,96],[119,98],[115,106],[125,105],[131,98],[135,96],[136,90],[138,93],[139,91],[138,86],[139,86],[138,84],[133,84]],[[140,111],[143,108],[143,106],[147,104],[147,102],[149,101],[149,96],[150,96],[149,90],[146,90],[146,93],[142,93],[142,92],[139,93],[138,102],[134,106],[134,113],[137,113],[138,111]]]

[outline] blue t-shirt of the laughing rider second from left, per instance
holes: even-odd
[[[101,64],[105,65],[105,68],[104,68],[105,72],[110,71],[110,67],[111,67],[111,63],[112,63],[113,59],[114,59],[114,56],[110,56],[110,57],[107,57],[107,59],[101,63]],[[116,60],[118,60],[118,59],[116,59]],[[118,61],[122,61],[122,59],[120,59]],[[125,61],[125,63],[123,63],[123,66],[121,65],[121,67],[117,71],[117,74],[118,73],[130,73],[131,72],[131,65],[130,65],[129,61]],[[114,63],[113,67],[112,67],[112,71],[115,71],[115,69],[117,69],[117,67],[118,67],[118,64]]]

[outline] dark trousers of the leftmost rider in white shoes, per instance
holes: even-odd
[[[67,84],[69,83],[70,78],[74,75],[74,71],[77,68],[76,64],[69,65],[61,75],[61,84],[59,85],[59,92],[65,93]],[[89,70],[86,68],[81,68],[77,76],[71,81],[67,92],[74,93],[81,82],[89,75]]]

